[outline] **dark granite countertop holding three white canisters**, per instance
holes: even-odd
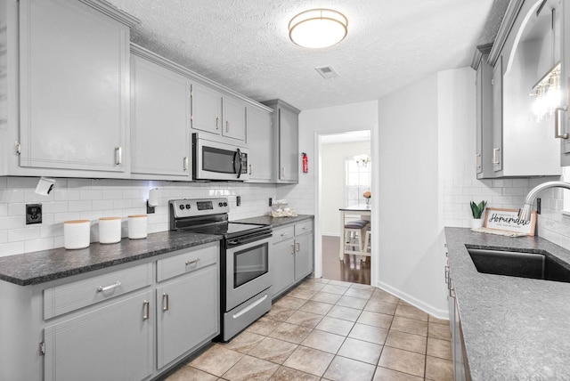
[[[0,280],[20,286],[57,280],[83,272],[93,272],[120,263],[203,245],[222,239],[210,234],[162,231],[146,239],[122,239],[116,244],[92,243],[78,250],[55,248],[0,257]]]

